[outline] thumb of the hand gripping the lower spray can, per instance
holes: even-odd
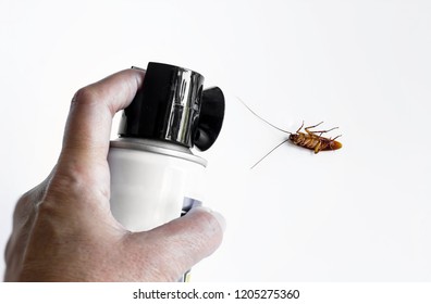
[[[141,254],[146,268],[143,279],[177,281],[192,266],[219,248],[224,229],[225,220],[221,214],[199,206],[150,231],[133,233],[130,245]]]

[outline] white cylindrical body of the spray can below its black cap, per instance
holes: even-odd
[[[115,148],[109,151],[108,162],[111,212],[130,231],[150,230],[175,219],[185,198],[204,201],[202,164],[161,153]]]

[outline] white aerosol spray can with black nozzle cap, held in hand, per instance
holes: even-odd
[[[222,91],[204,90],[199,73],[149,63],[108,155],[116,220],[131,231],[146,231],[200,204],[207,161],[190,149],[209,149],[223,116]]]

